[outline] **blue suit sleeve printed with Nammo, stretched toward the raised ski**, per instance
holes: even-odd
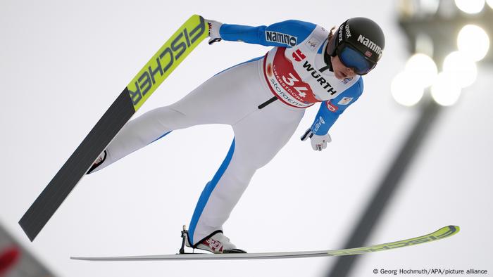
[[[263,46],[292,47],[304,41],[316,25],[299,20],[286,20],[269,26],[223,24],[219,34],[227,41],[244,41]]]

